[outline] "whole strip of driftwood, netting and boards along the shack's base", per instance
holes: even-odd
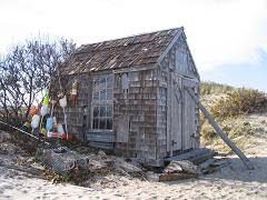
[[[214,157],[211,152],[201,151],[202,153],[192,157],[198,159],[179,156],[180,160],[170,161],[164,171],[156,173],[134,161],[78,143],[66,141],[58,143],[58,148],[56,143],[49,148],[41,144],[38,148],[34,142],[23,140],[20,134],[16,136],[0,131],[0,167],[52,182],[70,182],[95,189],[127,186],[132,179],[155,182],[198,178],[229,164],[224,157]]]

